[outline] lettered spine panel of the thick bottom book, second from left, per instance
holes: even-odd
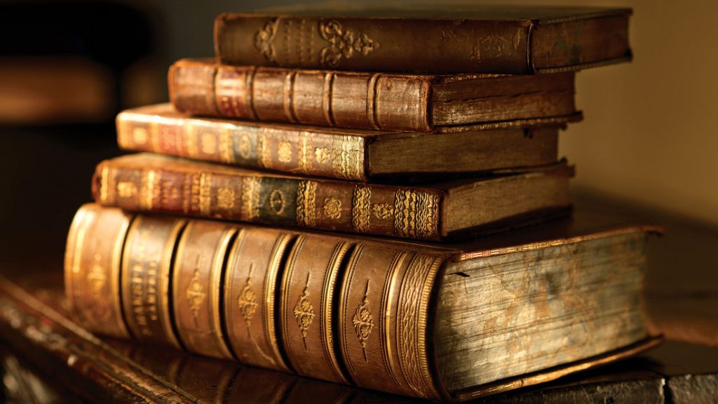
[[[132,336],[180,348],[170,318],[172,254],[186,221],[141,216],[124,242],[122,306]]]

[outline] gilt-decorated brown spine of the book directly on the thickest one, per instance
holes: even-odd
[[[262,177],[210,165],[123,166],[95,170],[104,206],[279,226],[440,239],[443,194],[429,188]]]

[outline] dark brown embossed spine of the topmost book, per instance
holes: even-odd
[[[223,14],[215,54],[228,65],[533,73],[529,20],[332,19]]]

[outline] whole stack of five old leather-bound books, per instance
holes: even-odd
[[[75,216],[75,316],[431,400],[656,344],[640,291],[661,229],[568,217],[557,156],[582,117],[574,70],[630,59],[629,15],[220,15],[217,58],[170,68],[171,105],[118,116],[120,146],[145,153],[101,162]]]

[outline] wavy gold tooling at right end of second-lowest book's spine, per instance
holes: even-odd
[[[437,236],[439,196],[416,190],[398,190],[394,199],[397,236],[430,239]]]

